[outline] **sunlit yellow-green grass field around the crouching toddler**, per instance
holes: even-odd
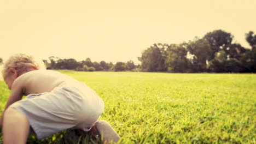
[[[101,119],[123,143],[256,143],[255,74],[61,73],[100,95]],[[3,81],[0,88],[2,111],[9,90]],[[37,142],[79,143],[73,131],[60,135]],[[83,141],[99,143],[90,135]]]

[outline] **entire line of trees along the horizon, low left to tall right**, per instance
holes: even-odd
[[[235,43],[231,33],[221,29],[206,33],[203,38],[181,44],[157,43],[142,52],[136,65],[133,61],[92,62],[90,58],[76,61],[51,56],[43,62],[46,69],[77,71],[161,71],[169,73],[255,73],[256,35],[250,31],[245,39],[251,46]],[[3,59],[0,58],[0,64]]]

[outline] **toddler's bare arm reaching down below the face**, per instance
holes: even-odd
[[[11,86],[11,93],[7,100],[7,104],[5,105],[4,111],[9,107],[9,105],[15,103],[18,100],[21,100],[23,93],[24,93],[24,91],[22,88],[22,82],[20,79],[16,79],[13,82],[13,86]],[[3,124],[4,111],[3,111],[1,119],[0,119],[0,127],[2,127],[2,124]]]

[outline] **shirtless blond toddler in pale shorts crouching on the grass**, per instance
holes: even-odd
[[[11,90],[0,119],[4,143],[26,143],[30,128],[37,139],[68,128],[89,131],[103,113],[104,102],[91,88],[57,71],[39,69],[32,56],[11,56],[2,75]]]

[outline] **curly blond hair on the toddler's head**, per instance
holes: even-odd
[[[27,71],[27,68],[34,67],[36,69],[40,68],[40,64],[34,60],[33,56],[26,55],[24,53],[17,53],[4,63],[2,69],[2,75],[5,78],[9,74],[9,69],[16,69],[17,73],[20,74],[24,71]]]

